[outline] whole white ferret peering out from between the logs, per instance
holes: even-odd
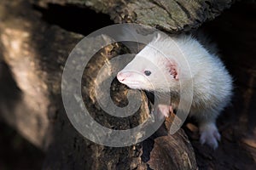
[[[117,78],[130,88],[170,93],[171,106],[154,108],[156,114],[163,116],[169,116],[171,108],[177,109],[180,81],[184,89],[193,86],[189,116],[195,116],[199,123],[201,144],[206,143],[213,149],[218,147],[220,134],[215,122],[230,103],[232,78],[217,55],[210,54],[195,38],[158,34],[119,71]]]

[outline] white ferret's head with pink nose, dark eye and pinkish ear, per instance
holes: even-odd
[[[177,62],[149,43],[117,78],[129,88],[168,92],[178,86],[178,73]]]

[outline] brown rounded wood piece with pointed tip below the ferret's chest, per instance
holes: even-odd
[[[174,114],[172,113],[163,127],[156,134],[159,136],[154,139],[154,148],[150,152],[149,167],[152,169],[197,169],[195,153],[189,146],[189,139],[179,129],[177,133],[168,133],[173,123]],[[172,166],[171,166],[172,165]]]

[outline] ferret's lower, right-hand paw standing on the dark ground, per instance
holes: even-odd
[[[220,141],[220,134],[218,133],[218,129],[215,124],[207,124],[200,127],[201,144],[208,144],[213,148],[213,150],[218,148],[218,141]]]

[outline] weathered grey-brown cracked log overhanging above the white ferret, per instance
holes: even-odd
[[[36,3],[71,3],[109,14],[115,23],[132,22],[176,33],[198,28],[213,20],[235,0],[39,0]],[[99,20],[100,22],[100,20]]]

